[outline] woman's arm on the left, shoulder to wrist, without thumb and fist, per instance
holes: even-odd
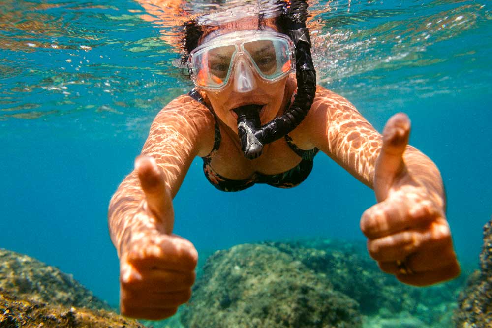
[[[126,241],[129,238],[155,231],[172,231],[172,199],[193,158],[200,153],[200,142],[208,140],[209,144],[213,143],[214,125],[210,122],[214,118],[206,108],[196,107],[192,101],[188,96],[179,97],[159,112],[141,153],[152,157],[162,170],[165,191],[159,193],[162,199],[157,202],[164,202],[167,206],[165,210],[151,213],[144,208],[147,203],[144,202],[146,196],[139,180],[141,171],[138,175],[137,171],[128,175],[111,199],[108,224],[111,240],[119,255],[122,245],[128,244]]]

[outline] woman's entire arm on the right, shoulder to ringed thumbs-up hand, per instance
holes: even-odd
[[[406,115],[389,119],[380,135],[343,97],[322,88],[318,95],[309,119],[311,142],[376,194],[378,204],[361,219],[369,254],[408,284],[457,276],[442,179],[427,156],[407,145]]]

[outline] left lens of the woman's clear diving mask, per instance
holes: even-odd
[[[220,88],[227,83],[231,61],[236,52],[234,45],[206,49],[193,56],[196,84],[202,87]]]

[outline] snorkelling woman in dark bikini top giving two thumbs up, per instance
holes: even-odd
[[[393,116],[381,136],[343,97],[319,86],[311,92],[309,64],[298,58],[298,79],[290,74],[293,42],[280,33],[282,22],[247,16],[214,29],[188,26],[196,89],[156,116],[109,208],[124,315],[165,318],[190,298],[197,252],[172,234],[172,199],[195,156],[217,188],[239,191],[301,183],[320,150],[374,189],[378,203],[362,215],[361,229],[381,270],[415,286],[459,274],[442,180],[432,161],[407,145],[409,119]],[[308,35],[294,34],[309,45]],[[295,49],[297,57],[309,55]],[[262,135],[268,128],[273,132]]]

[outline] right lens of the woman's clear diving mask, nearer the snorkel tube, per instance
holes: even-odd
[[[290,49],[286,40],[257,40],[245,42],[243,47],[263,77],[275,79],[290,72]]]

